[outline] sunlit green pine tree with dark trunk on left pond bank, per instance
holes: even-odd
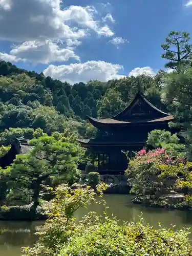
[[[18,195],[26,189],[31,192],[32,211],[39,205],[39,194],[48,178],[72,184],[80,177],[77,168],[79,147],[63,135],[55,133],[32,140],[32,150],[26,155],[18,155],[9,167],[11,193]]]

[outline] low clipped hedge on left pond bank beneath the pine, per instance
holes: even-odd
[[[16,206],[1,206],[0,220],[42,220],[47,216],[45,211],[38,206],[35,214],[31,211],[32,204],[29,205],[16,205]]]

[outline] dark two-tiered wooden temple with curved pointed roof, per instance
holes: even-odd
[[[151,104],[138,93],[127,108],[119,114],[104,119],[88,117],[102,134],[94,139],[79,139],[83,147],[93,154],[93,170],[100,174],[123,173],[127,157],[123,152],[141,150],[147,135],[155,129],[169,131],[168,122],[174,117]]]

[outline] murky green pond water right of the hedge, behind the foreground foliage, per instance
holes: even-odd
[[[190,211],[167,210],[163,208],[144,207],[143,205],[132,204],[130,195],[105,195],[106,204],[110,207],[108,215],[114,215],[121,221],[137,221],[139,216],[144,218],[146,223],[158,228],[158,222],[163,227],[172,227],[176,225],[176,229],[182,227],[191,227],[192,215]],[[76,218],[79,220],[88,211],[96,211],[102,214],[104,206],[102,204],[89,205],[88,209],[80,209]],[[192,238],[192,234],[191,234]]]

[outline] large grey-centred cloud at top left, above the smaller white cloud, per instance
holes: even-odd
[[[0,0],[0,38],[12,41],[84,37],[87,29],[111,36],[107,26],[94,19],[95,8],[70,6],[62,10],[60,0]],[[74,21],[76,27],[68,22]],[[80,28],[79,28],[80,26]]]

